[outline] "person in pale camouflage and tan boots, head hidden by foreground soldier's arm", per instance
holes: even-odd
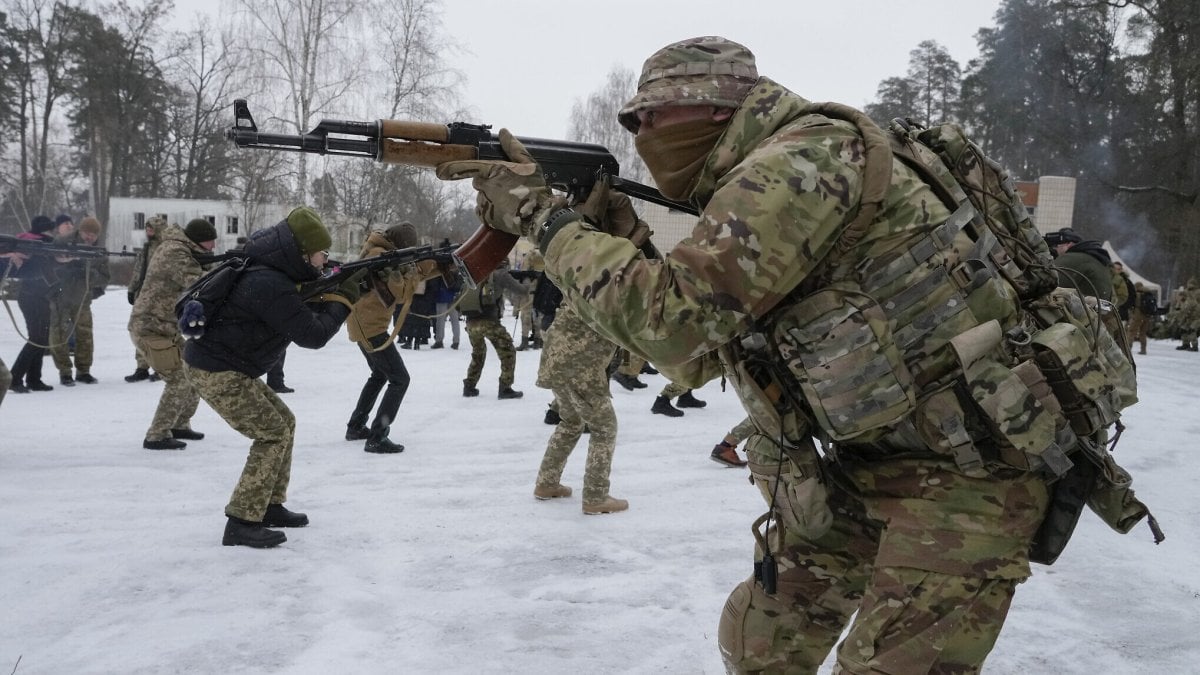
[[[538,368],[538,386],[554,393],[560,422],[550,435],[538,470],[533,496],[539,500],[571,496],[559,480],[584,426],[588,459],[583,470],[583,513],[595,515],[629,508],[629,502],[608,495],[612,453],[617,449],[617,412],[608,393],[606,368],[616,346],[580,321],[564,306],[546,331]]]

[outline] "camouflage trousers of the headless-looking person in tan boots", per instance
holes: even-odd
[[[538,468],[538,486],[557,485],[563,478],[566,459],[587,426],[590,434],[588,459],[583,466],[584,503],[604,501],[608,495],[612,454],[617,449],[617,412],[612,407],[608,380],[602,377],[602,371],[596,375],[600,377],[583,377],[577,383],[551,389],[562,422],[550,435],[546,454]]]

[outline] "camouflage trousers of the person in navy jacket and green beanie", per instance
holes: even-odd
[[[236,371],[188,372],[212,410],[234,431],[253,441],[226,515],[259,522],[269,504],[288,498],[296,418],[280,396],[257,377]]]

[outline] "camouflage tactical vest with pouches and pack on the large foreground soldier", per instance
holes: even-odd
[[[1063,476],[1078,436],[1136,400],[1128,347],[1102,327],[1111,307],[1055,289],[1049,250],[1012,180],[956,126],[896,121],[886,133],[845,106],[811,112],[863,135],[863,199],[821,268],[731,347],[732,363],[772,389],[767,429],[866,452],[924,447],[980,477]],[[952,216],[906,250],[853,259],[846,253],[877,225],[894,160]],[[1112,328],[1123,338],[1120,322]],[[782,422],[790,407],[808,419]]]

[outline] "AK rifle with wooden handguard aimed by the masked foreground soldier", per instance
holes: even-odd
[[[244,98],[233,102],[234,125],[226,138],[240,148],[290,150],[317,155],[367,157],[391,165],[437,167],[456,160],[508,160],[491,125],[436,124],[401,120],[343,121],[322,120],[304,135],[263,133],[258,131]],[[546,184],[566,192],[572,201],[587,197],[596,180],[607,177],[613,190],[692,215],[694,205],[667,199],[658,190],[618,175],[620,165],[604,145],[520,138],[529,155],[541,166]],[[517,237],[480,226],[457,251],[469,277],[475,282],[496,269],[516,244]]]

